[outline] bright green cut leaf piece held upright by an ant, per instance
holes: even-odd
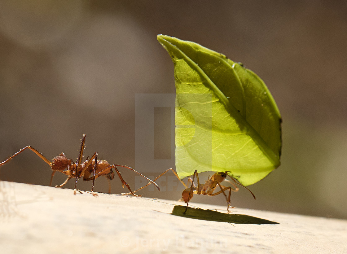
[[[264,82],[197,43],[158,35],[175,67],[176,171],[229,171],[243,185],[280,165],[281,116]]]

